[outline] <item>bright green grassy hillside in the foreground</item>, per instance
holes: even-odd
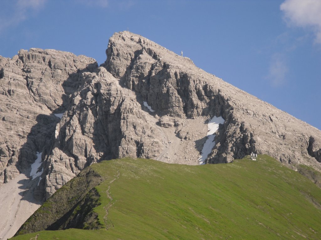
[[[101,229],[12,239],[321,239],[321,189],[269,156],[201,166],[124,158],[90,168],[104,178],[93,209]]]

